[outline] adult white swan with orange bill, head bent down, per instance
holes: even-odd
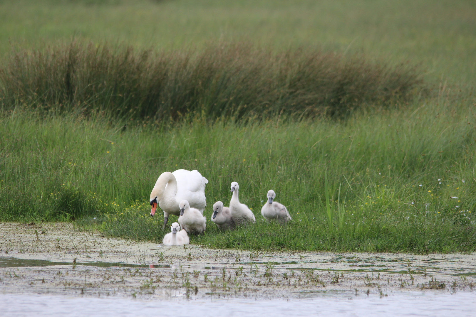
[[[160,174],[155,186],[150,192],[150,215],[153,217],[159,204],[164,211],[164,229],[169,221],[169,214],[180,215],[178,203],[188,201],[191,207],[197,208],[202,214],[207,206],[205,199],[205,184],[208,181],[197,170],[177,170],[173,173]]]

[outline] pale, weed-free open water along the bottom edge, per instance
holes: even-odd
[[[2,316],[475,316],[476,294],[396,292],[387,297],[352,292],[310,293],[305,299],[210,299],[140,301],[116,298],[68,298],[48,295],[0,295]]]

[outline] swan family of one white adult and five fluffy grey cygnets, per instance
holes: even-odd
[[[154,216],[157,206],[164,211],[164,229],[169,220],[169,215],[178,216],[178,223],[172,223],[170,233],[163,239],[163,244],[182,245],[190,242],[188,233],[201,234],[205,231],[207,219],[203,211],[207,206],[205,199],[205,185],[208,180],[197,170],[177,170],[173,173],[162,173],[150,193],[150,215]],[[229,207],[223,202],[213,204],[211,221],[215,222],[221,230],[232,230],[236,226],[256,223],[255,215],[247,205],[238,200],[238,183],[231,183],[231,196]],[[279,202],[274,202],[276,193],[268,191],[268,200],[261,208],[261,215],[268,222],[278,221],[286,223],[291,219],[286,207]],[[180,230],[180,228],[182,230]]]

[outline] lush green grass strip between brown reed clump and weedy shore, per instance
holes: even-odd
[[[161,217],[149,216],[149,192],[160,173],[185,168],[209,180],[207,218],[215,201],[228,202],[229,184],[237,181],[241,201],[258,219],[256,226],[226,234],[208,221],[206,235],[193,243],[258,250],[474,250],[474,114],[441,101],[429,107],[421,100],[346,124],[275,117],[159,129],[129,123],[125,131],[100,116],[40,120],[11,113],[0,121],[6,136],[0,144],[1,220],[74,217],[108,235],[160,241],[165,231]],[[287,227],[261,221],[271,188],[293,217]]]

